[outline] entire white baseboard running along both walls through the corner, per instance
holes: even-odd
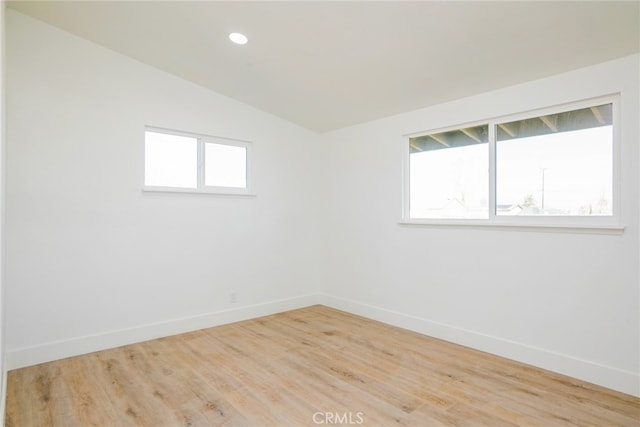
[[[7,370],[323,304],[389,325],[461,344],[640,397],[640,375],[550,350],[324,294],[304,295],[166,322],[10,350]],[[6,380],[6,375],[5,375]]]

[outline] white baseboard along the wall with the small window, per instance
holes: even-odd
[[[51,362],[66,357],[79,356],[198,329],[211,328],[227,323],[268,316],[317,304],[317,295],[269,301],[262,304],[216,311],[133,328],[109,331],[96,335],[49,342],[33,347],[9,350],[6,354],[7,370]]]

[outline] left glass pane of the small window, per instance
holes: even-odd
[[[145,132],[144,183],[149,186],[196,188],[198,140]]]

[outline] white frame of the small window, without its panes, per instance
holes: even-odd
[[[243,141],[239,139],[223,138],[218,136],[203,135],[193,132],[185,132],[173,129],[164,129],[159,127],[145,126],[145,132],[156,132],[167,135],[183,136],[188,138],[194,138],[197,140],[197,187],[196,188],[182,188],[182,187],[164,187],[155,185],[145,185],[143,182],[143,191],[155,191],[155,192],[167,192],[167,193],[201,193],[201,194],[221,194],[221,195],[237,195],[237,196],[255,196],[253,191],[252,180],[252,148],[253,144],[250,141]],[[143,137],[143,143],[144,143]],[[205,185],[205,144],[220,144],[234,147],[243,147],[246,150],[246,187],[219,187]],[[146,145],[146,144],[145,144]],[[145,153],[146,158],[146,153]],[[144,174],[143,174],[144,180]]]

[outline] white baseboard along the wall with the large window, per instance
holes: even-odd
[[[640,397],[640,375],[566,354],[505,340],[353,300],[319,295],[319,304],[398,326],[434,338],[527,363]]]

